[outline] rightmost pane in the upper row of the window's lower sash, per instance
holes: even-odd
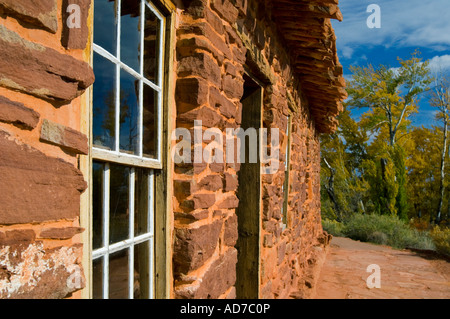
[[[136,186],[135,186],[135,217],[134,217],[134,233],[139,236],[149,232],[148,214],[149,214],[149,185],[148,170],[136,169]]]

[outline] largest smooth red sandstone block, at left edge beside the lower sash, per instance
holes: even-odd
[[[0,131],[0,224],[73,219],[87,185],[81,172],[61,159]]]

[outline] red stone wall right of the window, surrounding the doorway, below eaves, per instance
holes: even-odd
[[[306,298],[329,240],[320,221],[319,132],[271,17],[271,1],[184,4],[176,45],[177,127],[192,131],[196,119],[202,120],[203,131],[239,127],[244,65],[264,83],[264,127],[280,130],[281,148],[280,169],[263,175],[262,182],[260,296]],[[292,151],[285,227],[282,185],[289,113]],[[239,168],[239,164],[175,165],[176,298],[236,296]]]

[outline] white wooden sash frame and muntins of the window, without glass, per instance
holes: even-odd
[[[162,169],[162,141],[163,141],[163,83],[164,83],[164,59],[165,59],[165,29],[166,29],[166,18],[159,12],[159,10],[153,5],[153,3],[149,2],[149,0],[141,0],[141,39],[140,39],[140,70],[136,72],[131,67],[127,66],[120,59],[121,54],[121,25],[120,25],[120,17],[121,17],[121,4],[122,0],[116,0],[116,17],[117,17],[117,32],[116,32],[116,56],[102,48],[97,44],[93,44],[93,51],[103,58],[106,58],[110,62],[112,62],[116,67],[116,101],[115,101],[115,141],[114,141],[114,150],[106,150],[103,148],[96,147],[92,145],[92,162],[103,162],[103,208],[102,208],[102,218],[103,218],[103,238],[102,238],[102,247],[95,249],[91,253],[91,265],[95,260],[103,259],[103,295],[104,299],[109,297],[109,256],[113,253],[119,251],[128,250],[128,297],[132,299],[133,290],[134,290],[134,247],[141,243],[148,242],[149,245],[149,298],[154,298],[154,238],[155,238],[155,229],[154,229],[154,207],[155,207],[155,199],[154,199],[154,190],[155,190],[155,169]],[[144,77],[144,28],[145,28],[145,9],[147,8],[159,19],[160,21],[160,29],[159,29],[159,44],[157,46],[158,51],[158,78],[156,83],[146,79]],[[94,12],[95,14],[95,12]],[[95,28],[95,25],[94,25]],[[95,30],[94,30],[95,32]],[[120,73],[121,70],[124,70],[131,75],[133,75],[137,80],[139,80],[139,107],[138,107],[138,155],[132,155],[124,152],[120,152]],[[155,90],[155,94],[157,94],[157,103],[155,105],[156,121],[155,124],[157,126],[157,134],[156,134],[156,158],[145,157],[143,154],[143,88],[144,84],[150,86],[153,90]],[[95,88],[94,88],[95,90]],[[128,209],[129,209],[129,236],[128,239],[110,244],[109,243],[109,220],[110,220],[110,212],[109,212],[109,203],[110,203],[110,163],[111,164],[120,164],[125,165],[130,168],[130,175],[128,180]],[[148,171],[148,232],[142,235],[135,237],[134,234],[134,215],[135,215],[135,207],[134,207],[134,198],[135,198],[135,169],[136,168],[144,168]]]

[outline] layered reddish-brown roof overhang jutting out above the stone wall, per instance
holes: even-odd
[[[320,132],[331,132],[347,97],[330,19],[342,21],[338,0],[277,0],[273,17],[290,54]]]

